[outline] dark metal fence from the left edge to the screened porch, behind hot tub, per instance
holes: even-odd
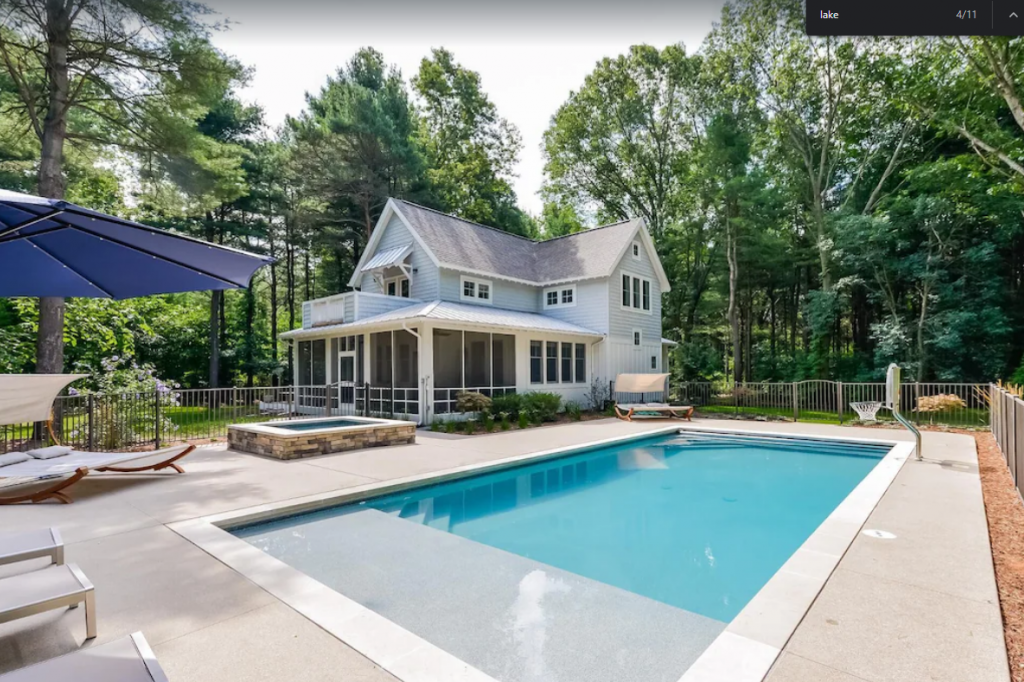
[[[52,427],[59,442],[76,450],[117,452],[217,441],[230,424],[350,416],[418,421],[419,410],[418,391],[369,384],[200,388],[60,396]],[[0,426],[0,453],[48,440],[42,424]]]

